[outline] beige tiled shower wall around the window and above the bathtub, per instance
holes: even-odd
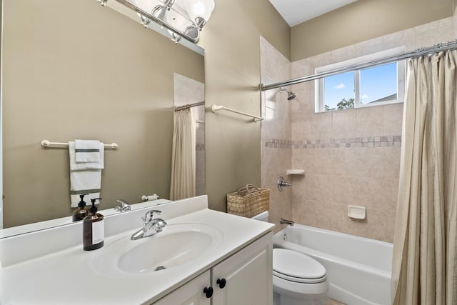
[[[411,51],[450,41],[457,37],[456,27],[455,17],[442,19],[295,61],[291,64],[291,78],[314,74],[318,66],[396,46],[406,46],[406,51]],[[278,55],[266,41],[263,45],[262,81],[269,84],[288,79],[277,76],[280,64],[286,63],[278,61]],[[264,59],[265,56],[272,58]],[[268,69],[263,69],[264,65]],[[274,71],[275,67],[277,71]],[[282,106],[286,103],[285,96],[279,96],[277,89],[263,93],[267,117],[262,125],[263,185],[276,188],[273,186],[276,182],[273,181],[274,174],[283,175],[289,168],[306,171],[305,176],[285,176],[286,180],[293,182],[285,194],[272,192],[273,219],[291,215],[291,219],[299,224],[392,241],[403,104],[315,114],[313,81],[293,85],[291,89],[297,94],[296,99],[288,102],[291,106],[288,109],[291,134],[288,131],[284,134],[271,131],[276,131],[286,121],[283,116],[277,115],[268,120],[268,111],[272,112],[268,104],[271,107]],[[291,151],[291,164],[284,159],[286,151]],[[284,202],[290,191],[291,205]],[[280,203],[275,202],[276,199]],[[365,206],[366,219],[350,219],[347,216],[350,204]]]

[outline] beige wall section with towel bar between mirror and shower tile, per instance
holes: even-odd
[[[206,24],[206,107],[223,105],[259,116],[260,36],[288,57],[290,28],[268,0],[220,0]],[[226,194],[261,184],[261,124],[238,114],[206,112],[206,191],[211,209]]]

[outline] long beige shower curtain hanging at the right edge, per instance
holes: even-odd
[[[408,61],[392,300],[457,304],[457,51]]]

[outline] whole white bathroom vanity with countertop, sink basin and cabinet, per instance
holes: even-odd
[[[150,209],[167,225],[131,240]],[[14,305],[272,304],[272,229],[212,211],[206,196],[173,201],[107,216],[94,251],[81,223],[0,239],[1,285]]]

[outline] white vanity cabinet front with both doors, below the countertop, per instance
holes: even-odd
[[[270,232],[154,305],[271,305],[272,241],[273,234]],[[205,289],[212,294],[206,294]]]

